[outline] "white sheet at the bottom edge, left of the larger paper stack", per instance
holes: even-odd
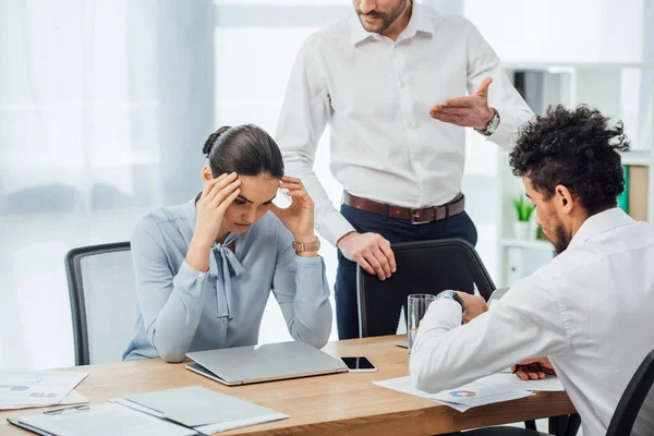
[[[191,428],[140,413],[120,404],[101,404],[61,414],[36,414],[17,420],[57,436],[193,436]]]

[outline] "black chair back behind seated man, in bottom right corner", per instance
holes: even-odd
[[[650,352],[627,385],[606,436],[654,434],[654,351]]]

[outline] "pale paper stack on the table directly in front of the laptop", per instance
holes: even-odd
[[[130,395],[111,401],[192,427],[204,434],[289,417],[274,410],[199,386]]]

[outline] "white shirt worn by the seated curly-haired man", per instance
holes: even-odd
[[[654,226],[614,208],[590,217],[568,249],[461,325],[461,306],[434,302],[411,353],[427,392],[457,387],[524,359],[548,356],[581,415],[604,435],[654,349]]]

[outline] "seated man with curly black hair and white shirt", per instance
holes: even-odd
[[[411,352],[416,388],[436,392],[537,363],[556,371],[584,435],[604,435],[630,378],[654,349],[654,226],[617,207],[625,187],[621,122],[588,107],[550,107],[510,154],[556,256],[487,308],[446,291]],[[461,298],[460,298],[461,296]],[[462,316],[472,319],[462,325]],[[479,316],[477,316],[479,315]]]

